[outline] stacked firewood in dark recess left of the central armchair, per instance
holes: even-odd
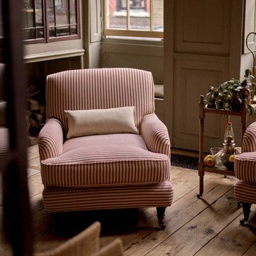
[[[26,112],[26,121],[28,135],[37,137],[38,133],[45,124],[44,96],[36,83],[31,84],[27,90],[28,110]]]

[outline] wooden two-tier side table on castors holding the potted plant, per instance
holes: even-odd
[[[244,132],[247,127],[247,106],[246,99],[244,99],[243,108],[240,112],[237,111],[227,111],[223,109],[210,109],[205,108],[204,104],[204,96],[200,96],[199,102],[199,161],[198,161],[198,175],[199,175],[199,194],[197,195],[200,198],[204,193],[204,172],[214,172],[221,173],[224,175],[234,175],[234,171],[231,170],[223,170],[220,168],[209,168],[204,166],[204,118],[205,113],[212,114],[221,114],[226,117],[226,124],[229,122],[230,115],[241,116],[241,124],[242,124],[242,140],[244,136]]]

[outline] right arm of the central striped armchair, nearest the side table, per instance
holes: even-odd
[[[151,152],[170,157],[170,138],[166,126],[155,113],[145,115],[141,120],[141,136]]]

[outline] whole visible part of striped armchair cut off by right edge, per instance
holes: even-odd
[[[256,122],[244,133],[242,154],[236,157],[235,174],[239,181],[235,185],[235,198],[242,203],[244,225],[248,221],[252,204],[256,204]]]

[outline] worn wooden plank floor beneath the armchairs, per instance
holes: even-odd
[[[173,167],[174,200],[166,210],[166,228],[161,231],[154,208],[47,214],[37,150],[37,146],[29,147],[28,157],[35,252],[54,248],[99,220],[100,246],[121,237],[125,255],[256,255],[256,207],[252,206],[250,225],[241,227],[241,207],[233,198],[234,177],[206,174],[200,200],[196,198],[198,173]]]

